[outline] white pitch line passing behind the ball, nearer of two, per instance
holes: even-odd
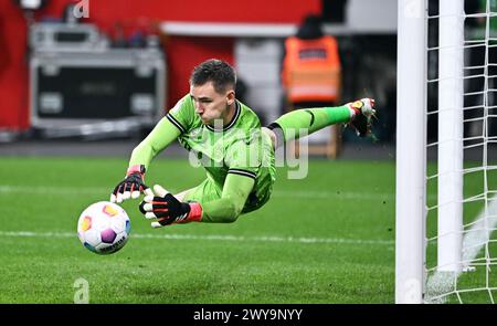
[[[31,232],[31,231],[0,231],[0,236],[15,238],[74,238],[77,239],[76,232]],[[130,233],[130,239],[159,239],[159,240],[200,240],[200,241],[233,241],[233,242],[288,242],[303,244],[357,244],[357,245],[392,245],[393,240],[360,240],[360,239],[341,239],[341,238],[298,238],[298,236],[241,236],[241,235],[221,235],[221,234],[142,234]]]

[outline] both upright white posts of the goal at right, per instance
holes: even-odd
[[[395,303],[423,303],[426,283],[427,0],[399,0]],[[440,0],[437,269],[461,272],[464,0]]]

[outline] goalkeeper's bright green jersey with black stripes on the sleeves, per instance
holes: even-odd
[[[255,210],[269,199],[275,181],[274,150],[250,107],[236,101],[234,116],[226,126],[210,126],[202,124],[192,98],[186,95],[166,117],[180,130],[179,143],[219,188],[223,188],[228,173],[255,180],[243,212]]]

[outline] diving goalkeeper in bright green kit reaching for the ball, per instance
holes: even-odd
[[[231,223],[260,209],[275,182],[275,150],[288,140],[334,124],[347,124],[359,137],[371,134],[374,99],[362,98],[337,107],[289,112],[267,127],[235,97],[236,75],[221,60],[208,60],[190,76],[190,93],[133,150],[126,177],[110,194],[112,202],[145,193],[139,209],[152,228],[189,222]],[[199,186],[169,193],[154,191],[145,175],[152,159],[176,139],[205,169]]]

